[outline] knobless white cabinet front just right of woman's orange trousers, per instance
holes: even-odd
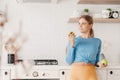
[[[97,76],[98,76],[98,80],[106,80],[107,79],[106,69],[98,69]]]

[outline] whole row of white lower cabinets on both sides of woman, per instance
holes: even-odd
[[[19,68],[20,69],[20,68]],[[30,71],[28,75],[26,72],[18,70],[17,77],[20,79],[41,79],[41,80],[70,80],[70,67],[69,66],[51,66],[51,67],[41,67],[35,66]],[[96,68],[98,80],[120,80],[120,67],[107,67],[107,68]],[[11,69],[1,69],[1,79],[0,80],[12,80],[16,79],[16,70]]]

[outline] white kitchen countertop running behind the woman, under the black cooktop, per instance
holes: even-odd
[[[32,62],[31,62],[32,61]],[[70,65],[35,65],[33,63],[33,60],[18,60],[17,65],[7,65],[7,66],[0,66],[1,69],[14,69],[14,68],[21,68],[23,67],[22,64],[24,64],[27,67],[32,66],[32,69],[71,69]],[[107,67],[100,68],[96,67],[96,69],[109,69],[109,68],[119,68],[120,69],[120,63],[109,63]]]

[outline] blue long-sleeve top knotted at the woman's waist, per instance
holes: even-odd
[[[74,47],[70,42],[67,46],[66,62],[70,65],[74,62],[85,62],[96,64],[99,62],[101,51],[101,40],[99,38],[82,38],[80,36],[74,39]]]

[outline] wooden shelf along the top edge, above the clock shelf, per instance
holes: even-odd
[[[120,0],[79,0],[78,4],[120,4]]]

